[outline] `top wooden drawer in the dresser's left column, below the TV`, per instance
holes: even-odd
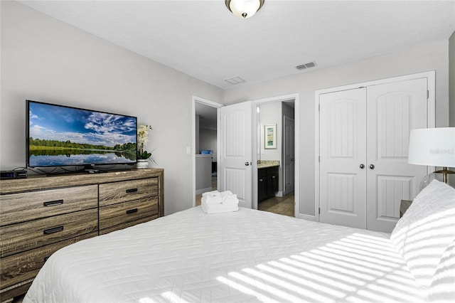
[[[0,225],[82,211],[98,206],[98,186],[75,186],[0,196]]]

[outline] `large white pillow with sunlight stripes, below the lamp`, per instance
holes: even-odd
[[[398,220],[390,240],[419,286],[429,287],[444,250],[455,240],[455,189],[432,181]]]

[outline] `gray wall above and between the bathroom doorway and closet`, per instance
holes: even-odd
[[[299,212],[314,216],[314,92],[370,80],[436,70],[437,126],[449,125],[449,42],[437,41],[352,63],[309,70],[225,91],[225,104],[299,94]]]

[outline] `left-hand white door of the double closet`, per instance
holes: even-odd
[[[319,220],[366,228],[366,88],[323,94],[319,104]]]

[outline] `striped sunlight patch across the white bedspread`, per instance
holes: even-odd
[[[412,298],[414,285],[407,282],[396,258],[388,239],[354,233],[217,280],[260,301],[360,302],[387,299],[390,294],[406,301]]]

